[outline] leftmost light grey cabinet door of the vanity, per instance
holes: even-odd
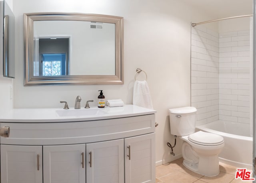
[[[42,146],[0,145],[2,183],[42,183]]]

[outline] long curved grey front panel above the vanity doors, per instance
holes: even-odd
[[[10,136],[1,137],[1,144],[82,144],[152,133],[155,114],[84,122],[2,122],[1,126],[10,126]]]

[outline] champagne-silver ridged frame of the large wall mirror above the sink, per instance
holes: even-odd
[[[115,24],[115,75],[33,76],[34,21],[77,20]],[[106,85],[124,84],[123,18],[118,16],[82,13],[28,13],[24,14],[24,86],[31,85]]]

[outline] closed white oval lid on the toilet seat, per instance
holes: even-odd
[[[224,143],[222,136],[202,131],[190,134],[188,140],[203,146],[217,146]]]

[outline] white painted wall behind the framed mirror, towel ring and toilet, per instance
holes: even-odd
[[[82,105],[94,99],[98,90],[106,99],[122,98],[132,104],[136,68],[148,75],[156,122],[156,161],[168,162],[180,156],[180,142],[170,155],[169,108],[190,106],[190,23],[213,17],[200,13],[183,0],[14,0],[16,16],[15,108],[70,107],[80,95]],[[82,12],[124,17],[124,85],[23,86],[23,13]],[[142,73],[143,74],[143,73]],[[141,75],[142,75],[141,74]]]

